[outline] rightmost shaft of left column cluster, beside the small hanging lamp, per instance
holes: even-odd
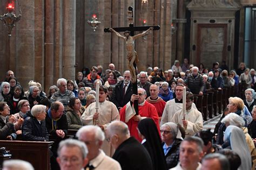
[[[75,79],[76,1],[63,1],[63,78]]]

